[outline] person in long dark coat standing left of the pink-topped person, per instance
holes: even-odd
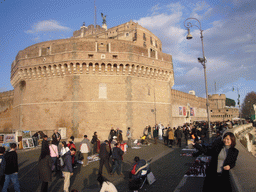
[[[49,147],[42,148],[38,162],[39,179],[42,180],[41,192],[48,192],[48,182],[52,181],[52,158]]]

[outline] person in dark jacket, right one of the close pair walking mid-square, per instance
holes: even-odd
[[[113,170],[111,175],[114,175],[115,171],[117,172],[118,175],[123,175],[122,174],[123,154],[124,152],[122,151],[122,149],[120,149],[120,143],[116,143],[112,152]]]

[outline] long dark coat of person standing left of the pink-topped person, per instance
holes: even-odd
[[[52,158],[47,155],[38,162],[39,179],[44,182],[52,181]]]

